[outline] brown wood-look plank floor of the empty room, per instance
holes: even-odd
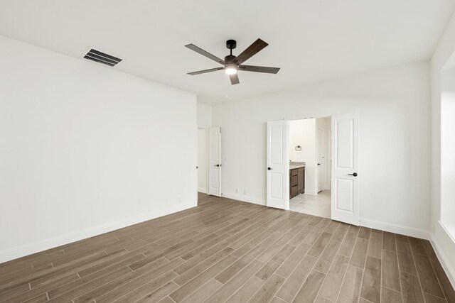
[[[0,264],[0,302],[455,302],[428,241],[199,195]]]

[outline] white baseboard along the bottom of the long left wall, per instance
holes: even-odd
[[[93,226],[90,228],[84,228],[80,231],[75,231],[73,233],[67,233],[65,235],[43,239],[41,241],[36,241],[35,243],[31,243],[25,246],[18,246],[7,250],[2,250],[0,251],[0,263],[4,263],[9,260],[14,260],[16,258],[21,258],[25,255],[31,255],[32,253],[38,253],[40,251],[54,248],[57,246],[62,246],[75,241],[80,241],[82,239],[90,238],[92,236],[98,236],[102,233],[107,233],[109,231],[114,231],[119,228],[124,228],[130,225],[138,224],[144,221],[158,218],[160,216],[166,216],[167,214],[173,214],[177,211],[190,209],[192,207],[197,206],[197,204],[198,202],[182,203],[168,207],[166,209],[158,209],[147,214],[131,216],[127,219],[120,219],[117,221],[109,222],[107,224]]]

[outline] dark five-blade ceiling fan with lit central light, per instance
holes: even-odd
[[[244,70],[245,72],[267,72],[268,74],[276,74],[279,71],[279,67],[264,67],[264,66],[255,66],[255,65],[242,65],[243,62],[250,59],[250,57],[259,53],[260,50],[265,48],[268,43],[265,43],[261,39],[257,39],[252,45],[250,45],[246,50],[244,50],[240,55],[232,55],[232,50],[237,47],[237,41],[228,40],[226,41],[226,48],[230,50],[230,55],[225,57],[225,60],[216,57],[202,48],[198,48],[194,44],[185,45],[186,48],[194,50],[196,53],[200,53],[209,59],[220,63],[223,67],[210,68],[210,70],[199,70],[198,72],[188,72],[188,75],[194,76],[199,74],[205,74],[206,72],[216,72],[217,70],[224,70],[226,74],[230,77],[230,83],[232,85],[239,84],[239,77],[237,72]]]

